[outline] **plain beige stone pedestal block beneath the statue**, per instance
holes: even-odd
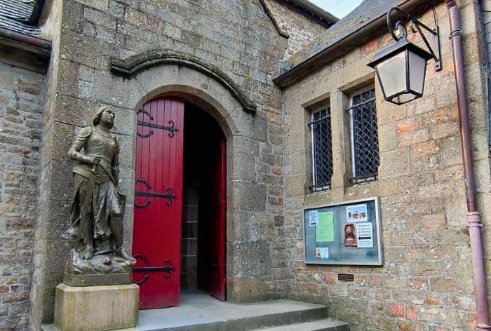
[[[137,322],[135,284],[56,287],[55,325],[60,331],[115,330],[135,327]]]

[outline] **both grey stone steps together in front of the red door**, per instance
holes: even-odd
[[[182,296],[179,307],[141,310],[136,327],[119,331],[347,331],[346,323],[327,317],[320,304],[276,300],[257,304],[220,302],[209,295]],[[60,331],[43,325],[43,331]]]

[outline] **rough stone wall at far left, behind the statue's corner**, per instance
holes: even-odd
[[[44,76],[0,59],[0,330],[25,330],[39,177]]]

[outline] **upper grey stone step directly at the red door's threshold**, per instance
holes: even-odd
[[[291,300],[257,304],[214,302],[210,305],[208,302],[203,306],[195,303],[194,307],[188,306],[186,310],[180,308],[140,311],[140,322],[136,330],[248,331],[276,325],[322,320],[327,317],[325,306]]]

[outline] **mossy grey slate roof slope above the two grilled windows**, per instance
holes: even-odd
[[[288,60],[283,62],[281,73],[288,72],[293,67],[297,67],[305,60],[321,53],[335,43],[342,41],[350,34],[363,29],[370,22],[386,14],[389,8],[401,6],[410,0],[365,0],[360,6],[356,7],[347,16],[339,20],[335,25],[325,30],[322,34],[312,39],[297,53],[293,54]]]

